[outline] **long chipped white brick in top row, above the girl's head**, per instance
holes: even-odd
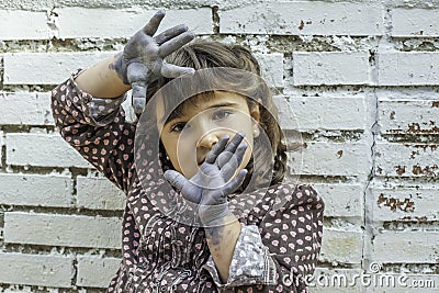
[[[382,10],[364,3],[271,2],[219,10],[219,32],[277,35],[381,35]]]

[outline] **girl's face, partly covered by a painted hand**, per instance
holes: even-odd
[[[162,106],[157,109],[157,121],[162,121]],[[160,138],[173,168],[185,178],[193,177],[207,153],[224,135],[232,137],[245,133],[247,150],[238,170],[251,157],[254,137],[259,135],[259,108],[249,109],[244,95],[235,92],[214,91],[206,100],[183,104],[182,115],[162,125]],[[157,125],[160,129],[161,125]]]

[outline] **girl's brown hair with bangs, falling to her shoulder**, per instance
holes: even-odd
[[[247,78],[247,76],[254,75],[247,74],[246,78],[228,75],[222,75],[219,78],[215,76],[212,78],[212,80],[215,81],[210,82],[219,82],[222,84],[227,83],[230,88],[243,89],[244,92],[248,93],[246,95],[249,109],[259,106],[259,125],[268,136],[272,151],[271,157],[262,156],[262,159],[266,160],[262,166],[273,165],[273,171],[269,174],[271,178],[270,184],[282,182],[286,170],[286,148],[282,142],[283,134],[278,123],[278,109],[273,102],[270,89],[260,78],[260,67],[251,52],[241,45],[226,45],[219,42],[196,41],[169,55],[166,58],[166,61],[177,66],[191,67],[195,70],[223,67],[240,69],[255,75],[256,78],[250,79]],[[149,84],[147,93],[148,100],[170,80],[171,79],[161,77]],[[196,86],[194,84],[194,87]],[[209,93],[203,93],[202,95],[212,97],[212,94]],[[191,99],[189,99],[189,101]],[[172,99],[164,99],[164,103],[166,109],[176,109],[175,112],[177,113],[172,115],[179,115],[178,112],[182,110],[181,104],[176,108],[176,101],[172,101]],[[258,137],[255,142],[257,142],[257,139]],[[255,154],[255,156],[258,157],[257,154]],[[249,161],[246,169],[248,169],[247,177],[251,177],[255,171],[252,159]],[[262,170],[260,170],[260,172]],[[247,184],[248,180],[246,180],[244,185]]]

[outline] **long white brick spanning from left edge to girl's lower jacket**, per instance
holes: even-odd
[[[121,219],[79,215],[4,213],[4,243],[120,248]]]

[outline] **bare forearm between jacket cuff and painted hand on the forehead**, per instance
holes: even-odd
[[[116,74],[113,63],[117,56],[108,58],[82,71],[76,79],[78,88],[93,97],[117,98],[131,89]]]

